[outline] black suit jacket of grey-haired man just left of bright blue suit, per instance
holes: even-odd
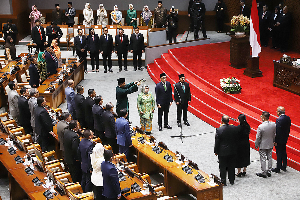
[[[108,110],[104,111],[102,114],[102,121],[104,125],[105,137],[116,138],[116,121],[113,113]]]

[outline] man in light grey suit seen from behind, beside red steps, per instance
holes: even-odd
[[[261,173],[256,173],[256,176],[267,178],[271,176],[272,169],[272,149],[276,136],[276,124],[274,121],[269,121],[270,113],[264,111],[260,115],[262,124],[257,127],[255,148],[259,148]],[[266,169],[268,159],[268,169]]]

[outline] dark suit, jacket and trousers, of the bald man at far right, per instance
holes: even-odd
[[[276,136],[275,136],[275,146],[276,149],[276,168],[281,169],[286,168],[287,155],[286,155],[286,143],[289,138],[289,131],[291,129],[291,119],[289,116],[280,115],[276,119]]]

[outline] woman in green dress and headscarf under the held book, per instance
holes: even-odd
[[[145,132],[151,132],[155,101],[148,85],[142,86],[142,92],[137,97],[137,109],[140,115],[141,128]]]

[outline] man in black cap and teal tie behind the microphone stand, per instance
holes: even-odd
[[[177,105],[177,126],[181,127],[181,113],[183,112],[183,124],[187,122],[187,104],[190,104],[190,85],[185,82],[184,74],[179,74],[179,82],[174,87],[174,100]]]

